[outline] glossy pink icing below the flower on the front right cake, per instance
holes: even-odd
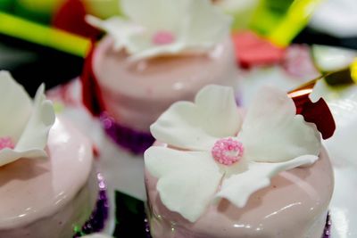
[[[195,223],[162,204],[157,179],[147,171],[145,185],[153,238],[320,238],[334,189],[325,150],[311,167],[273,177],[271,185],[238,209],[227,200],[212,204]]]

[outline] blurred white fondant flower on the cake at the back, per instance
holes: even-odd
[[[230,18],[210,0],[122,0],[128,19],[87,16],[125,48],[131,60],[178,53],[203,53],[227,37]]]

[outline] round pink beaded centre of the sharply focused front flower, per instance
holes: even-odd
[[[213,159],[228,166],[240,160],[243,152],[243,144],[232,138],[220,139],[212,148]]]

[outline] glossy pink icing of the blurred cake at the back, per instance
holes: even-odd
[[[105,110],[123,126],[149,131],[170,104],[192,101],[203,86],[237,87],[237,65],[230,37],[208,54],[176,55],[129,62],[104,37],[95,47],[93,70]]]

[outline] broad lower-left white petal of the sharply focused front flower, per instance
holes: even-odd
[[[158,178],[162,203],[191,222],[212,201],[222,174],[209,152],[183,152],[153,146],[146,150],[145,168]]]

